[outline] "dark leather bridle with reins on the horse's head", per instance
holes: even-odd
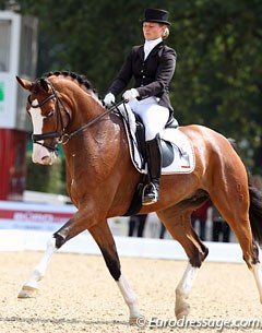
[[[71,119],[70,112],[66,108],[62,99],[58,96],[58,93],[57,93],[55,86],[52,85],[52,83],[50,81],[46,80],[46,79],[38,79],[38,81],[40,81],[40,80],[44,80],[45,83],[51,87],[51,92],[52,92],[51,95],[46,97],[44,100],[41,100],[37,105],[33,105],[33,102],[31,100],[31,95],[28,96],[27,102],[31,105],[31,107],[38,108],[38,107],[41,107],[43,105],[45,105],[48,100],[55,98],[56,99],[56,103],[55,103],[55,112],[57,114],[57,129],[56,129],[55,132],[47,132],[47,133],[43,133],[43,134],[32,134],[32,141],[34,143],[43,145],[44,147],[46,147],[47,150],[49,150],[51,152],[57,152],[59,143],[67,144],[72,136],[74,136],[75,134],[84,131],[85,129],[91,127],[93,123],[97,122],[100,118],[105,117],[107,114],[109,114],[112,110],[117,109],[117,107],[120,104],[123,103],[123,100],[122,100],[122,102],[120,102],[118,104],[115,104],[111,108],[107,109],[105,112],[103,112],[102,115],[99,115],[95,119],[91,120],[88,123],[84,124],[80,129],[78,129],[78,130],[75,130],[75,131],[73,131],[72,133],[69,134],[69,133],[66,133],[66,127],[64,127],[64,122],[63,122],[62,112],[61,112],[61,108],[60,107],[62,107],[62,109],[64,109],[66,114],[68,115],[69,121]],[[59,129],[59,121],[61,123],[61,131],[60,132],[58,130]],[[55,146],[47,145],[44,142],[40,142],[40,141],[44,141],[44,140],[47,140],[47,139],[58,139],[58,140],[56,141]]]

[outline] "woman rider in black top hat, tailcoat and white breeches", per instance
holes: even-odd
[[[172,117],[168,85],[176,68],[176,51],[163,41],[169,35],[168,14],[162,9],[145,10],[144,19],[141,20],[145,43],[132,48],[104,98],[106,106],[114,105],[116,96],[134,76],[134,87],[127,90],[122,97],[145,126],[150,183],[143,191],[143,205],[158,200],[162,170],[159,132]]]

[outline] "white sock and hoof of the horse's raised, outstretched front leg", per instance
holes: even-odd
[[[34,271],[31,273],[29,278],[23,285],[22,290],[19,294],[19,298],[33,297],[33,295],[35,294],[34,292],[39,289],[38,282],[44,277],[48,263],[50,262],[51,255],[56,251],[57,251],[56,239],[51,238],[47,242],[47,248],[41,260],[35,266]]]

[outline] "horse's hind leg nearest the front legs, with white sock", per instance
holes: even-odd
[[[170,207],[157,212],[160,221],[164,223],[171,236],[181,243],[189,258],[188,266],[176,288],[175,314],[177,319],[189,314],[190,306],[187,299],[199,269],[209,253],[207,248],[201,242],[199,236],[192,228],[191,212],[192,210],[187,212],[178,210],[178,207]]]

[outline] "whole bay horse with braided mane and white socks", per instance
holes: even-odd
[[[28,81],[16,78],[29,92],[27,112],[33,122],[33,162],[51,165],[62,143],[67,187],[76,213],[47,243],[47,249],[23,285],[19,297],[38,290],[55,251],[83,230],[98,245],[106,265],[129,308],[130,322],[140,317],[138,298],[124,278],[107,218],[128,211],[140,173],[131,163],[122,119],[106,109],[87,80],[71,72],[55,72]],[[192,142],[195,168],[191,174],[165,175],[159,201],[142,206],[140,214],[156,212],[170,235],[180,242],[188,266],[176,288],[177,319],[189,314],[188,297],[209,250],[191,226],[191,213],[211,200],[235,231],[243,260],[252,272],[262,302],[262,271],[258,245],[262,245],[262,198],[230,142],[202,127],[177,129]],[[258,243],[258,245],[257,245]]]

